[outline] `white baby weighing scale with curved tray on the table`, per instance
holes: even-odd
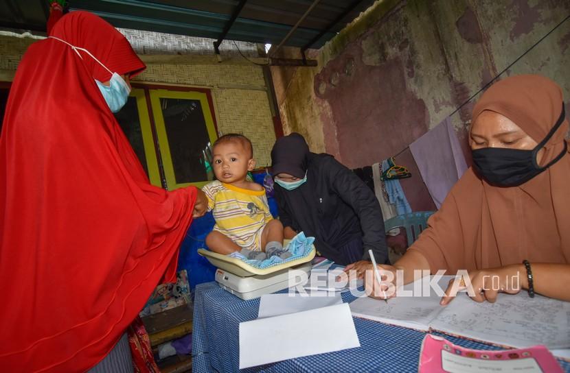
[[[294,261],[287,261],[260,269],[238,258],[232,258],[231,256],[205,249],[198,249],[198,254],[207,258],[214,267],[218,268],[216,270],[216,282],[218,282],[218,285],[243,300],[275,293],[275,291],[287,289],[290,285],[295,284],[295,282],[289,283],[289,271],[291,269],[305,272],[305,279],[308,278],[315,252],[315,246],[313,246],[306,256],[297,258]],[[295,276],[299,274],[295,274]],[[295,280],[299,281],[300,278]]]

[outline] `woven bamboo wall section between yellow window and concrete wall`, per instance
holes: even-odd
[[[258,167],[271,165],[275,130],[267,95],[262,91],[216,89],[218,130],[220,134],[240,133],[253,144]]]

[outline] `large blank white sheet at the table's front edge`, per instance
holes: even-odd
[[[346,303],[240,323],[240,369],[354,347]]]

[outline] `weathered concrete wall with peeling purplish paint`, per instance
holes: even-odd
[[[318,67],[272,68],[275,80],[290,77],[277,92],[284,130],[310,134],[313,149],[347,167],[371,165],[451,115],[569,14],[567,0],[377,1],[321,48]],[[568,100],[569,67],[570,19],[502,76],[546,75]],[[451,116],[461,141],[473,101]],[[415,167],[407,150],[396,160]],[[412,179],[411,197],[425,195]],[[422,201],[415,210],[429,207]]]

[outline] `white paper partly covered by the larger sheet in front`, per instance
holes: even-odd
[[[319,309],[321,307],[342,304],[343,298],[340,293],[328,293],[326,291],[311,292],[310,296],[299,293],[265,294],[261,296],[258,317],[273,317]]]

